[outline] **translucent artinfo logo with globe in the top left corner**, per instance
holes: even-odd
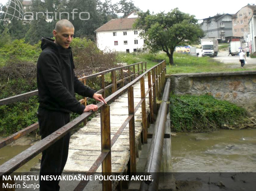
[[[53,20],[60,20],[62,19],[61,17],[65,15],[67,18],[70,19],[70,15],[72,16],[72,20],[75,19],[75,14],[78,14],[76,12],[78,9],[73,9],[71,13],[68,12],[59,12],[57,15],[57,9],[55,9],[55,13],[53,12],[48,12],[46,10],[45,12],[24,12],[22,3],[19,0],[9,0],[8,3],[6,4],[6,10],[2,12],[3,17],[0,18],[2,21],[10,21],[12,19],[18,19],[18,20],[23,20],[23,21],[32,21],[32,20],[37,20],[38,15],[46,16],[46,20],[50,21]],[[36,16],[36,18],[34,17]],[[89,20],[90,19],[90,13],[89,12],[80,12],[79,13],[79,19],[80,20]]]

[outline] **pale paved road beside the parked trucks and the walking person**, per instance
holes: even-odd
[[[198,49],[199,57],[201,57],[201,49]],[[214,57],[214,60],[218,60],[219,62],[225,63],[229,68],[240,68],[241,63],[239,62],[239,56],[228,56],[228,50],[220,50],[218,52],[218,56]],[[256,58],[246,58],[247,64],[243,68],[245,69],[255,69],[256,70]]]

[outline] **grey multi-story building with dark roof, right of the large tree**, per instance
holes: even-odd
[[[233,14],[217,14],[203,19],[201,23],[205,34],[203,39],[217,38],[224,41],[225,37],[232,36],[232,16]]]

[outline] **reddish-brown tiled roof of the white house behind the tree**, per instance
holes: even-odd
[[[95,32],[133,29],[133,23],[136,19],[137,18],[112,19],[106,24],[97,28]]]

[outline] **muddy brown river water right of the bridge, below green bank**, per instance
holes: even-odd
[[[172,136],[173,172],[256,172],[256,129]]]

